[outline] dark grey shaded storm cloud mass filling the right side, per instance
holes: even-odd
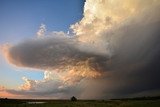
[[[145,20],[145,17],[142,19]],[[110,45],[114,48],[114,55],[105,65],[108,66],[106,71],[111,72],[96,80],[100,83],[88,86],[86,91],[91,96],[132,97],[144,91],[148,93],[140,95],[145,96],[155,95],[150,93],[154,90],[157,90],[156,95],[160,94],[160,20],[150,20],[147,23],[133,22],[104,33],[106,38],[111,36]],[[94,91],[88,91],[93,87]],[[94,94],[95,91],[99,94]]]

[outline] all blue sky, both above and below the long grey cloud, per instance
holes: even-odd
[[[84,0],[0,0],[0,45],[33,38],[41,23],[47,31],[67,32],[71,24],[82,18],[83,5]],[[0,85],[8,88],[22,84],[23,76],[43,78],[42,71],[15,69],[1,54],[0,68]]]

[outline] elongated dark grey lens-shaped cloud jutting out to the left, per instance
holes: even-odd
[[[88,58],[93,58],[89,62],[93,67],[94,62],[107,58],[107,56],[89,51],[81,51],[78,49],[81,47],[77,47],[77,42],[73,38],[58,37],[57,35],[30,39],[9,49],[10,62],[20,67],[52,70],[62,67],[62,65],[64,67],[75,66],[78,62],[86,61]],[[86,46],[85,49],[87,48],[90,50],[90,47]]]

